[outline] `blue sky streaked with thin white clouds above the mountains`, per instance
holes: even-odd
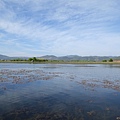
[[[0,0],[0,54],[120,56],[120,0]]]

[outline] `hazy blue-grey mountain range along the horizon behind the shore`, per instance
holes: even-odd
[[[11,59],[28,59],[29,57],[9,57],[6,55],[0,55],[1,60],[11,60]],[[64,61],[71,61],[71,60],[81,60],[81,61],[102,61],[102,60],[109,60],[110,58],[114,60],[120,60],[120,56],[78,56],[78,55],[67,55],[67,56],[60,56],[57,57],[55,55],[45,55],[37,58],[43,58],[48,60],[64,60]]]

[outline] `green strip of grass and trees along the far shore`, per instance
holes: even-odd
[[[89,61],[89,60],[47,60],[41,58],[29,58],[29,59],[12,59],[12,60],[0,60],[0,63],[34,63],[34,64],[120,64],[120,61],[113,59],[102,61]]]

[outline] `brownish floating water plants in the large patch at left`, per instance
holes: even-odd
[[[42,70],[1,70],[0,82],[12,82],[15,84],[23,84],[36,80],[50,80],[59,77],[60,72],[44,72]]]

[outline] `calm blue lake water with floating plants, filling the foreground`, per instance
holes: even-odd
[[[0,63],[0,120],[120,120],[120,65]]]

